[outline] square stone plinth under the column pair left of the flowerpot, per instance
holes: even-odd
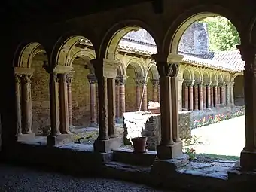
[[[122,145],[122,139],[120,137],[115,137],[107,140],[96,139],[93,143],[94,151],[107,153],[112,150],[117,150]]]

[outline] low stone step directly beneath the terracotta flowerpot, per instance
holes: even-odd
[[[157,157],[156,151],[147,151],[143,154],[135,154],[130,149],[118,149],[114,151],[113,160],[136,166],[151,166]]]

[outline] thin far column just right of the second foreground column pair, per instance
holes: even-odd
[[[72,80],[73,75],[69,73],[67,75],[67,84],[68,84],[68,105],[69,105],[69,130],[74,130],[75,126],[73,126],[73,115],[72,115]]]

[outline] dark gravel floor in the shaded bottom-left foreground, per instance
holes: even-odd
[[[1,192],[50,192],[50,191],[156,191],[142,184],[104,178],[75,178],[57,173],[0,164]]]

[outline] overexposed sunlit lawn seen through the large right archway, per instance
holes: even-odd
[[[197,153],[240,156],[245,146],[245,116],[194,129],[192,135],[203,142],[195,147]]]

